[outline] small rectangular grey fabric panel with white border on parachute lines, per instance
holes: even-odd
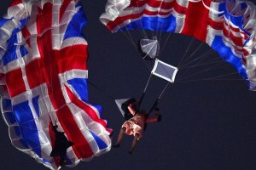
[[[165,79],[168,82],[174,82],[177,74],[177,67],[168,65],[159,59],[155,59],[154,68],[151,72],[155,76]]]

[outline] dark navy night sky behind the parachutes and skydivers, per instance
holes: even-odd
[[[10,2],[5,0],[1,3],[1,16],[6,13]],[[113,128],[115,142],[124,120],[111,98],[139,98],[150,71],[140,59],[137,48],[124,34],[110,33],[98,20],[107,0],[82,2],[89,20],[84,28],[89,43],[89,80],[101,89],[99,91],[93,86],[89,87],[90,102],[102,105],[103,117],[108,120],[109,127]],[[131,34],[137,41],[138,34]],[[180,59],[179,56],[183,56],[191,41],[191,37],[172,35],[161,53],[164,56],[162,58],[171,56]],[[186,55],[193,54],[193,50],[200,44],[194,40]],[[209,50],[206,44],[202,44],[195,56]],[[210,58],[217,59],[219,56],[212,53]],[[176,62],[174,59],[173,63]],[[201,71],[207,68],[202,67]],[[221,67],[186,78],[186,75],[194,75],[194,71],[197,70],[177,73],[177,82],[168,88],[160,100],[162,122],[148,124],[132,156],[127,153],[132,138],[125,136],[119,149],[110,150],[92,161],[81,161],[73,169],[256,169],[256,92],[247,90],[246,82],[238,74],[224,77],[222,81],[203,80],[236,72],[226,62],[222,62]],[[185,82],[181,81],[182,78]],[[195,79],[199,81],[191,81]],[[159,78],[153,78],[143,102],[145,109],[150,108],[165,83]],[[3,118],[0,119],[0,126],[0,169],[48,169],[11,145]]]

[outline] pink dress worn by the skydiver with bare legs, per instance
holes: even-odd
[[[125,133],[127,135],[135,135],[136,133],[139,135],[138,139],[143,137],[143,129],[145,124],[145,116],[143,114],[137,114],[128,121],[124,122],[122,127],[125,127]]]

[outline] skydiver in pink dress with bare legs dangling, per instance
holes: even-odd
[[[148,112],[138,111],[134,109],[134,104],[128,106],[128,110],[133,115],[128,121],[125,121],[120,129],[119,137],[116,144],[113,145],[113,148],[117,148],[120,145],[121,140],[123,139],[124,134],[134,135],[132,140],[131,149],[128,153],[131,155],[134,150],[137,140],[141,139],[143,136],[143,130],[147,122],[160,122],[161,115],[159,114],[159,109],[154,110],[154,117],[148,117]]]

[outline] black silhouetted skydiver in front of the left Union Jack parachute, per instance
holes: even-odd
[[[73,142],[69,141],[65,136],[64,132],[57,131],[58,126],[52,127],[55,133],[55,145],[53,150],[50,152],[51,157],[60,156],[60,166],[64,166],[67,163],[67,148],[73,145]]]

